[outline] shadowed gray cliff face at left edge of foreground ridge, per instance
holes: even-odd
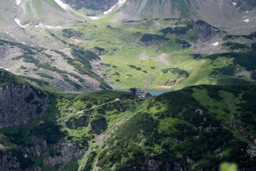
[[[18,83],[0,88],[0,127],[22,126],[29,119],[44,116],[49,98],[34,92],[25,84]]]

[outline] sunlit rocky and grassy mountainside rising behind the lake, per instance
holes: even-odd
[[[254,11],[254,1],[5,0],[0,67],[65,91],[254,81],[248,58],[221,55],[255,51]]]

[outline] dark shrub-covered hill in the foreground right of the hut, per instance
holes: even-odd
[[[255,136],[255,126],[243,119],[245,111],[241,109],[243,102],[253,105],[246,94],[254,90],[253,84],[198,86],[158,96],[107,140],[98,155],[97,166],[102,170],[121,170],[140,168],[146,160],[161,160],[163,163],[157,169],[165,170],[173,161],[186,168],[183,161],[187,156],[195,161],[189,164],[191,170],[211,170],[223,161],[235,162],[239,168],[255,167],[255,159],[241,152],[249,148],[247,143],[253,144],[247,135]],[[202,109],[204,115],[197,109]],[[255,115],[251,117],[255,122]],[[235,123],[242,126],[236,130],[232,128]],[[211,129],[206,131],[209,126]],[[245,126],[250,131],[242,132]],[[138,136],[130,131],[138,132]]]

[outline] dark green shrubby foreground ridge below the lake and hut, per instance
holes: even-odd
[[[0,71],[1,90],[15,88],[24,99],[17,108],[47,99],[44,115],[31,111],[26,123],[0,129],[3,170],[219,170],[222,161],[256,168],[255,84],[194,86],[144,100],[111,90],[44,91]]]

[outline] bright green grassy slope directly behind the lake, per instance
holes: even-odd
[[[92,40],[79,40],[78,42],[74,41],[74,43],[91,49],[95,46],[105,49],[105,55],[101,56],[104,60],[102,63],[111,65],[105,66],[102,73],[105,75],[105,79],[112,82],[117,88],[180,89],[196,84],[217,84],[216,80],[209,80],[212,70],[216,67],[232,64],[232,59],[225,57],[213,62],[205,58],[193,59],[192,56],[189,56],[193,52],[189,48],[180,47],[175,43],[175,37],[170,35],[166,36],[169,40],[155,40],[155,43],[151,46],[140,45],[140,39],[144,33],[163,35],[159,29],[170,25],[176,27],[177,25],[175,24],[181,24],[182,26],[186,24],[186,21],[159,19],[129,23],[109,22],[114,15],[77,24],[78,27],[74,28],[74,30],[83,32],[84,37],[91,36]],[[159,25],[158,28],[156,27],[157,24]],[[79,27],[79,25],[81,26]],[[159,50],[155,50],[156,48],[159,48]],[[142,58],[139,57],[141,55],[143,56]],[[165,56],[164,62],[157,59],[159,55]],[[113,67],[113,65],[116,67]],[[147,72],[131,69],[127,65],[135,65]],[[150,67],[155,67],[155,69]],[[170,67],[179,67],[179,69],[187,71],[190,75],[186,79],[171,72],[165,74],[161,72],[161,70]],[[237,66],[237,68],[242,69],[243,67]],[[116,72],[119,75],[114,74]],[[213,74],[213,76],[216,78],[217,75]],[[235,75],[233,77],[237,78]],[[164,86],[166,81],[174,80],[177,80],[174,86]]]

